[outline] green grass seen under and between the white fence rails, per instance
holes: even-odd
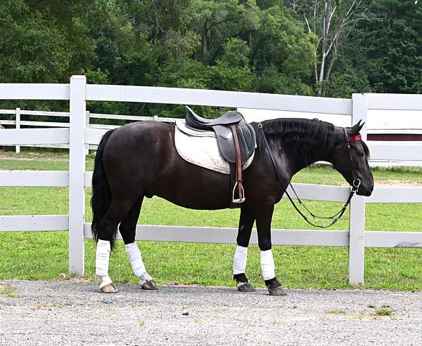
[[[0,169],[67,170],[67,156],[7,153],[1,157]],[[93,159],[87,159],[87,170]],[[376,179],[421,180],[420,169],[373,171]],[[307,168],[295,177],[296,182],[345,185],[343,178],[326,166]],[[87,189],[87,220],[90,189]],[[340,204],[309,201],[309,206],[330,214]],[[68,189],[59,187],[0,187],[1,215],[67,214]],[[190,211],[154,197],[143,204],[139,223],[150,225],[186,225],[237,227],[238,210]],[[347,229],[345,215],[335,229]],[[422,204],[367,204],[368,230],[421,231]],[[276,206],[274,228],[312,229],[295,213],[286,200]],[[333,228],[333,227],[332,227]],[[0,232],[0,279],[56,279],[68,272],[67,232]],[[233,245],[143,242],[143,258],[158,283],[231,286]],[[277,276],[287,288],[349,288],[347,284],[347,248],[274,246]],[[93,278],[94,241],[85,241],[86,272]],[[422,290],[422,253],[412,248],[366,248],[364,288]],[[253,284],[262,286],[259,249],[250,246],[247,275]],[[117,246],[110,260],[110,275],[117,283],[132,282],[124,246]]]

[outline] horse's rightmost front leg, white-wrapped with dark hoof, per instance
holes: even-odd
[[[274,258],[271,250],[271,219],[274,212],[274,204],[260,208],[255,213],[257,218],[258,245],[260,246],[260,259],[262,277],[270,295],[286,295],[281,284],[276,279]]]

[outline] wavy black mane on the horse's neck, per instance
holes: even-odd
[[[326,157],[334,145],[334,125],[318,119],[281,118],[262,122],[269,142],[275,142],[295,158],[312,163]]]

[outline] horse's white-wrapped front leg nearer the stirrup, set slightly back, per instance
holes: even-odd
[[[248,260],[248,245],[253,222],[255,222],[255,216],[250,208],[246,205],[242,206],[237,237],[238,245],[233,260],[233,278],[236,280],[236,287],[241,292],[256,291],[245,275],[246,262]]]

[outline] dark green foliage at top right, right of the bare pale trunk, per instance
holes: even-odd
[[[421,1],[374,1],[369,19],[351,32],[324,94],[421,93]]]

